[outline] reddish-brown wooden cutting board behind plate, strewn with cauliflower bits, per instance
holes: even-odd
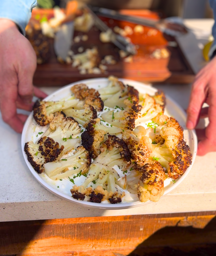
[[[151,17],[156,20],[159,19],[159,15],[156,12],[148,10],[122,10],[123,14],[138,15],[143,17]],[[52,10],[33,9],[32,18],[36,15],[41,17],[52,17]],[[105,17],[101,19],[111,28],[119,26],[124,28],[130,26],[134,28],[136,25],[129,22],[120,22],[116,20],[110,20]],[[51,58],[48,63],[44,63],[37,66],[34,74],[34,85],[36,86],[63,86],[71,82],[97,77],[107,77],[110,75],[117,76],[119,78],[128,78],[141,82],[166,82],[166,83],[190,83],[195,77],[192,68],[187,62],[182,50],[177,47],[171,47],[169,41],[175,41],[174,37],[167,36],[160,31],[156,35],[151,35],[151,28],[144,27],[144,33],[133,33],[133,35],[127,35],[131,38],[131,41],[137,46],[137,54],[133,56],[132,63],[126,63],[120,59],[118,48],[113,43],[102,43],[99,40],[100,31],[97,28],[92,27],[88,33],[82,33],[75,31],[74,37],[77,35],[88,35],[88,41],[80,41],[79,43],[73,43],[71,50],[75,54],[78,53],[78,48],[83,47],[84,50],[98,47],[101,59],[106,55],[113,55],[117,61],[115,65],[107,65],[107,74],[79,74],[79,70],[71,65],[58,63],[56,54],[53,50],[53,39],[49,39],[51,47]],[[149,32],[150,31],[150,32]],[[152,53],[156,49],[166,48],[169,51],[169,57],[166,59],[155,59],[152,57]]]

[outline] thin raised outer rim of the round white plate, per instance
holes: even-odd
[[[105,82],[107,81],[107,78],[89,78],[89,79],[84,79],[84,80],[79,80],[77,82],[73,82],[71,84],[65,85],[64,87],[61,87],[60,89],[57,89],[56,91],[54,91],[53,93],[51,93],[50,95],[48,95],[46,98],[44,98],[43,100],[49,100],[50,98],[53,97],[53,95],[55,93],[60,93],[61,91],[64,91],[65,89],[67,89],[68,87],[71,87],[77,83],[88,83],[88,82],[94,82],[95,81],[102,81]],[[125,79],[125,78],[118,78],[118,80],[124,82],[124,83],[131,83],[132,86],[141,86],[141,87],[148,87],[151,88],[152,92],[156,92],[158,91],[158,89],[151,87],[150,84],[145,84],[143,82],[139,82],[139,81],[135,81],[135,80],[130,80],[130,79]],[[169,100],[172,104],[174,104],[179,110],[180,113],[182,115],[182,117],[184,117],[183,119],[186,121],[186,113],[184,111],[184,109],[174,100],[172,100],[168,95],[166,95],[166,99]],[[47,189],[49,192],[53,193],[54,195],[60,197],[61,199],[67,200],[69,202],[78,204],[79,206],[85,206],[85,207],[90,207],[90,208],[99,208],[99,209],[104,209],[104,210],[120,210],[120,209],[127,209],[127,208],[135,208],[138,206],[143,206],[145,204],[149,204],[152,203],[151,201],[147,201],[147,202],[139,202],[139,201],[135,201],[135,202],[130,202],[130,203],[122,203],[122,204],[98,204],[98,203],[94,203],[94,202],[88,202],[88,201],[81,201],[81,200],[76,200],[74,199],[72,196],[70,197],[69,195],[64,194],[61,191],[57,191],[55,188],[51,187],[51,185],[49,185],[47,182],[45,182],[45,180],[43,180],[41,178],[41,176],[34,170],[34,168],[32,167],[32,165],[30,165],[30,163],[28,162],[27,159],[27,155],[24,152],[24,145],[25,145],[25,137],[26,137],[26,132],[27,132],[27,128],[29,126],[30,121],[33,118],[33,111],[30,113],[30,115],[28,116],[28,118],[26,119],[26,122],[24,124],[24,128],[23,128],[23,132],[21,135],[21,148],[22,148],[22,153],[24,156],[24,160],[26,162],[26,165],[28,166],[28,169],[31,171],[32,175],[34,176],[34,178],[36,178],[36,180],[43,186],[45,187],[45,189]],[[167,193],[169,193],[170,191],[172,191],[173,189],[175,189],[175,187],[177,187],[188,175],[188,173],[190,172],[192,165],[194,164],[195,161],[195,157],[196,157],[196,153],[197,153],[197,135],[195,130],[188,130],[188,132],[190,133],[190,136],[193,140],[192,145],[193,145],[193,153],[192,153],[192,163],[191,165],[186,169],[186,171],[184,172],[184,174],[182,174],[182,176],[174,183],[172,184],[169,188],[167,188],[163,194],[167,195]],[[162,197],[163,197],[162,196]]]

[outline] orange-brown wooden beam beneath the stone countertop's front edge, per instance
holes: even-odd
[[[216,243],[215,228],[215,215],[5,222],[0,223],[0,255],[128,255],[137,247]]]

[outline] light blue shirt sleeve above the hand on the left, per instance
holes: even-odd
[[[36,0],[0,0],[0,18],[15,22],[25,35],[26,25],[36,4]]]

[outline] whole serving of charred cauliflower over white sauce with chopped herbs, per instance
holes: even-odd
[[[76,200],[157,202],[192,159],[165,104],[163,92],[139,93],[113,76],[98,90],[74,85],[60,101],[34,105],[28,161],[51,187]]]

